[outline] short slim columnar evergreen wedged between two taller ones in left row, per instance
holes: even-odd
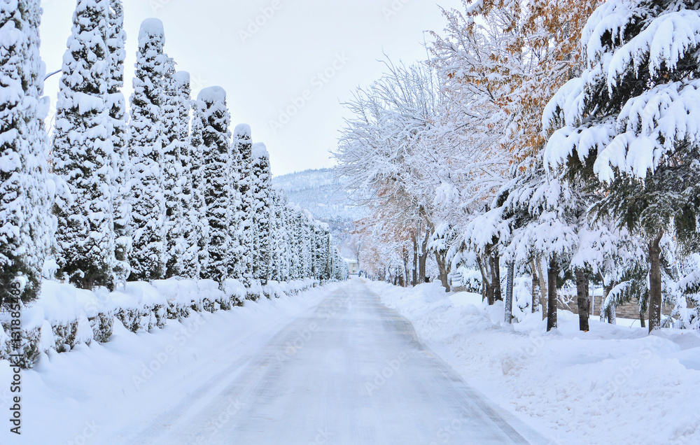
[[[190,136],[190,183],[192,185],[189,220],[193,225],[193,235],[188,242],[188,256],[195,262],[193,278],[202,278],[209,262],[209,224],[207,224],[207,202],[204,200],[204,113],[200,102],[193,105],[192,134]]]

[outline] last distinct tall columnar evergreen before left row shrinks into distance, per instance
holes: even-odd
[[[253,227],[255,240],[253,247],[253,278],[266,285],[272,269],[271,216],[272,176],[269,171],[269,154],[264,143],[253,144]]]

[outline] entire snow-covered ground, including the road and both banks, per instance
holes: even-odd
[[[0,443],[700,442],[697,332],[591,320],[583,333],[567,311],[549,333],[538,314],[502,320],[479,295],[356,278],[151,332],[116,322],[106,344],[22,372],[23,434]]]

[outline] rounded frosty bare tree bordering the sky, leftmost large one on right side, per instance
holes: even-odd
[[[446,184],[451,182],[448,172],[456,170],[453,178],[464,174],[457,160],[465,151],[482,153],[484,147],[472,148],[460,139],[460,126],[450,120],[449,98],[440,91],[434,69],[391,62],[386,68],[384,76],[358,88],[345,104],[352,118],[346,119],[335,153],[337,169],[351,178],[354,199],[372,207],[368,231],[381,232],[383,225],[401,235],[417,232],[419,226],[426,229],[414,244],[414,252],[421,252],[414,256],[422,281],[436,192],[448,188],[454,195],[454,186]]]

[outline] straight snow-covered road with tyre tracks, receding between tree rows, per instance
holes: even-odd
[[[507,417],[423,346],[405,318],[353,280],[246,365],[117,436],[139,444],[543,442]]]

